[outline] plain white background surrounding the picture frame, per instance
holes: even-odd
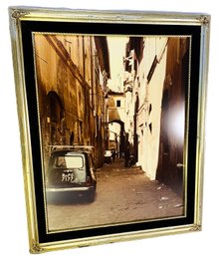
[[[218,167],[218,112],[219,112],[219,19],[215,0],[23,0],[1,1],[0,38],[0,234],[2,255],[29,255],[23,173],[20,154],[8,6],[32,5],[78,9],[135,9],[153,11],[206,12],[211,14],[210,67],[206,117],[206,152],[204,180],[203,231],[180,235],[148,238],[95,247],[51,252],[50,255],[218,255],[219,167]],[[49,254],[48,254],[49,255]]]

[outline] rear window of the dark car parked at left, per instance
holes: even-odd
[[[58,156],[55,161],[55,167],[62,168],[82,168],[84,166],[83,157],[80,155]]]

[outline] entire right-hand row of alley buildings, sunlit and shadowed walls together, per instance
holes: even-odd
[[[150,179],[159,179],[179,194],[188,42],[179,37],[130,37],[124,58],[125,130],[136,164]]]

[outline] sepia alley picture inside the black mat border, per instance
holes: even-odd
[[[185,215],[190,41],[33,33],[48,233]]]

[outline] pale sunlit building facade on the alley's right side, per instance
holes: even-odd
[[[166,37],[130,37],[126,46],[125,99],[129,142],[135,161],[154,179],[158,162],[160,106]]]

